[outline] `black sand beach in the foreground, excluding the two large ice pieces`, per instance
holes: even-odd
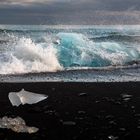
[[[34,105],[13,107],[11,91],[48,95]],[[0,140],[140,139],[140,83],[0,83],[0,117],[22,117],[35,134],[0,129]]]

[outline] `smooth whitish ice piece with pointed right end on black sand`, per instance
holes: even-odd
[[[13,106],[35,104],[48,98],[46,95],[25,91],[24,89],[19,92],[10,92],[8,97]]]

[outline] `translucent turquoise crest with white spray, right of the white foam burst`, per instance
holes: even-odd
[[[77,33],[59,33],[59,61],[64,67],[105,67],[139,61],[136,48],[118,42],[93,42]]]

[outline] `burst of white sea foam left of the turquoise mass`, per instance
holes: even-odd
[[[57,51],[51,44],[42,47],[24,37],[16,41],[8,44],[10,51],[3,53],[9,61],[0,60],[0,74],[54,72],[62,69],[57,59]]]

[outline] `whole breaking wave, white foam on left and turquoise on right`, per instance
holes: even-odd
[[[36,42],[13,37],[0,48],[0,74],[56,72],[65,68],[138,63],[140,49],[121,42],[94,42],[80,33],[58,33]]]

